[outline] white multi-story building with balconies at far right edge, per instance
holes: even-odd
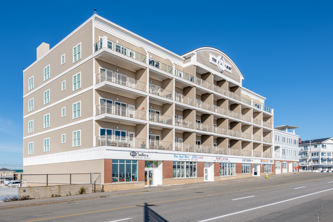
[[[333,137],[301,141],[299,143],[299,165],[303,170],[313,168],[314,172],[333,172],[332,153]]]

